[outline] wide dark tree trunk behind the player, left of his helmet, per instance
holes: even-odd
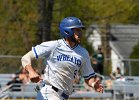
[[[51,24],[52,24],[52,13],[53,13],[54,0],[40,0],[39,1],[39,41],[49,41],[51,39]]]

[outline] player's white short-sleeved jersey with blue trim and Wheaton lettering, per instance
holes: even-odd
[[[51,85],[67,91],[73,91],[73,80],[80,70],[82,76],[88,79],[95,75],[86,49],[77,45],[71,48],[64,39],[43,42],[32,47],[36,58],[45,57],[47,62],[44,80]]]

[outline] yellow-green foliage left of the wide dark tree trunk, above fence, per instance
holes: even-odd
[[[36,0],[1,1],[0,43],[5,45],[1,47],[0,54],[21,55],[31,48],[36,40],[38,19],[36,3]]]

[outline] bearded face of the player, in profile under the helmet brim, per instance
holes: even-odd
[[[74,28],[74,38],[77,43],[81,43],[81,37],[82,37],[82,29],[81,28]]]

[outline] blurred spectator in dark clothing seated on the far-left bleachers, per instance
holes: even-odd
[[[22,81],[18,79],[18,75],[13,75],[12,80],[10,80],[6,85],[12,85],[11,91],[21,91]]]

